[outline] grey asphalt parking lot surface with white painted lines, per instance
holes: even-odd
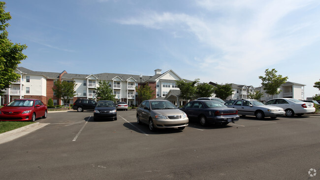
[[[207,127],[191,121],[183,131],[150,132],[135,111],[118,111],[116,121],[92,116],[72,111],[36,120],[49,124],[0,145],[0,178],[320,179],[320,117],[241,117]]]

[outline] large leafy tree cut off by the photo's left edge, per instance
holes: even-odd
[[[21,60],[27,58],[22,53],[27,49],[27,45],[14,44],[8,39],[8,31],[6,28],[9,25],[7,21],[11,19],[9,12],[5,12],[5,2],[0,2],[0,95],[3,90],[9,88],[11,82],[19,80],[20,75],[15,72]]]

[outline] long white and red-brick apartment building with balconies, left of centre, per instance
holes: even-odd
[[[155,92],[153,99],[165,98],[170,90],[179,90],[176,80],[183,80],[171,69],[164,73],[161,73],[161,69],[156,69],[153,76],[142,75],[141,78],[140,75],[116,73],[69,74],[65,70],[62,73],[42,72],[24,67],[18,67],[16,72],[20,75],[20,80],[13,82],[10,88],[5,90],[0,97],[1,105],[18,98],[40,99],[45,103],[52,98],[55,105],[61,105],[63,102],[53,92],[54,82],[57,80],[75,82],[76,95],[70,100],[70,104],[78,98],[96,99],[95,89],[99,86],[99,82],[107,81],[116,95],[116,101],[134,105],[140,103],[136,87],[150,86]],[[182,100],[173,102],[182,104]]]

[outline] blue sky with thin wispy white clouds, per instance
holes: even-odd
[[[19,66],[259,87],[265,69],[320,91],[319,0],[9,0]]]

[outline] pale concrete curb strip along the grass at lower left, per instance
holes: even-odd
[[[20,127],[18,129],[13,129],[11,131],[1,133],[0,134],[0,144],[12,141],[16,138],[19,138],[21,136],[29,134],[37,129],[40,129],[41,127],[48,125],[48,124],[50,124],[50,123],[35,122],[33,124],[29,124],[29,125]]]

